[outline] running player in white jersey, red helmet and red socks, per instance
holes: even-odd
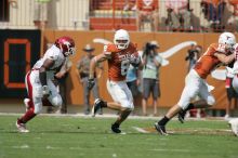
[[[27,73],[25,84],[28,98],[24,100],[26,113],[16,121],[16,128],[19,132],[29,132],[26,129],[26,123],[40,114],[42,101],[47,100],[53,106],[62,105],[62,97],[52,79],[54,74],[61,69],[66,57],[72,54],[75,54],[75,41],[69,37],[61,37]]]

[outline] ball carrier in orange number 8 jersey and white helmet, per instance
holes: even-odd
[[[100,108],[108,107],[119,110],[119,117],[111,124],[111,131],[121,133],[120,124],[128,118],[134,109],[133,97],[125,82],[125,76],[130,64],[141,65],[141,58],[136,45],[130,42],[130,36],[127,30],[119,29],[114,37],[114,43],[104,45],[102,54],[95,56],[90,64],[89,89],[94,85],[94,70],[97,63],[107,61],[108,80],[107,90],[114,102],[107,103],[102,98],[96,98],[92,108],[92,115],[95,116]]]

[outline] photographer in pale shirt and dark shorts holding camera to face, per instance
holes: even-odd
[[[143,64],[143,100],[142,110],[143,115],[147,115],[147,101],[149,94],[153,93],[153,107],[154,116],[157,115],[157,100],[160,97],[160,84],[159,84],[159,68],[162,63],[162,57],[158,54],[159,45],[157,41],[146,43],[145,50],[142,56]]]

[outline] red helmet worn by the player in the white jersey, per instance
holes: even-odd
[[[64,56],[74,55],[76,52],[75,41],[70,37],[61,37],[56,39],[55,45],[61,49]]]

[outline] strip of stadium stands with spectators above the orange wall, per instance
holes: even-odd
[[[0,28],[237,31],[237,0],[2,0]]]

